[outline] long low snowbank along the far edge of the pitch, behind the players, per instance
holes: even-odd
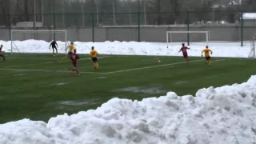
[[[0,41],[4,50],[10,52],[10,42]],[[52,53],[49,50],[49,42],[38,40],[14,41],[14,52],[21,53]],[[182,56],[178,51],[182,42],[169,44],[166,42],[74,42],[78,54],[89,54],[91,46],[95,46],[99,54],[122,54],[122,55],[164,55]],[[189,56],[200,57],[206,42],[191,42]],[[210,49],[214,51],[213,57],[248,58],[250,54],[250,43],[244,43],[241,47],[239,42],[210,42]],[[58,42],[59,53],[65,54],[65,42]],[[18,50],[16,49],[18,47]]]

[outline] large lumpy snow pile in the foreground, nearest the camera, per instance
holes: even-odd
[[[173,92],[141,102],[113,98],[97,110],[0,125],[0,143],[255,143],[256,76],[233,86]]]

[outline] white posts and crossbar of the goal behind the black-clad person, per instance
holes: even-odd
[[[66,43],[67,43],[67,39],[66,39],[66,30],[10,30],[10,40],[11,40],[11,43],[10,43],[10,51],[11,51],[11,54],[13,54],[13,45],[16,46],[16,44],[14,43],[14,40],[13,40],[13,33],[14,32],[24,32],[24,33],[37,33],[37,32],[49,32],[49,33],[58,33],[58,32],[63,32],[65,34],[65,47],[67,46]],[[16,46],[17,48],[17,46]],[[17,48],[18,50],[18,48]],[[18,50],[19,52],[19,50]]]

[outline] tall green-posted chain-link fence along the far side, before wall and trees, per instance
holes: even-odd
[[[10,30],[67,30],[70,41],[166,42],[167,30],[210,31],[211,41],[249,41],[250,0],[0,0],[0,39]],[[256,15],[256,14],[255,14]]]

